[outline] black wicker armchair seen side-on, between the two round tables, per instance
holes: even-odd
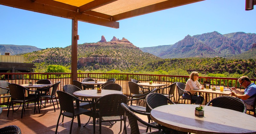
[[[128,105],[129,101],[131,101],[129,107],[131,107],[132,109],[135,109],[135,110],[137,110],[137,111],[140,111],[140,112],[146,112],[146,107],[139,106],[139,105],[138,105],[138,102],[137,102],[136,105],[132,105],[132,101],[135,101],[135,100],[136,100],[136,101],[143,100],[143,99],[146,98],[146,96],[147,96],[149,93],[155,93],[155,92],[157,92],[157,90],[158,90],[158,89],[154,88],[153,90],[151,90],[151,91],[148,92],[148,93],[140,94],[140,95],[134,95],[134,96],[132,96],[131,99],[127,100],[127,103],[126,103],[126,104]]]

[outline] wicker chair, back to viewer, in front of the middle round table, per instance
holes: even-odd
[[[124,94],[109,94],[100,97],[93,105],[93,111],[96,112],[96,105],[99,104],[99,119],[100,119],[100,134],[101,134],[101,123],[102,122],[113,122],[121,121],[120,131],[122,131],[122,121],[124,121],[124,129],[126,132],[125,125],[125,114],[124,110],[120,106],[121,103],[126,103],[127,96]],[[95,122],[95,118],[94,118]]]

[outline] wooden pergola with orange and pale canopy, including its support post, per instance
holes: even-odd
[[[78,21],[119,28],[118,20],[204,0],[0,0],[0,4],[72,19],[72,80],[77,77]]]

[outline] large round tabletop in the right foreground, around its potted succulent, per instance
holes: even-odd
[[[174,130],[191,133],[256,133],[256,118],[242,112],[204,107],[204,116],[195,115],[198,105],[174,104],[154,108],[150,117]]]

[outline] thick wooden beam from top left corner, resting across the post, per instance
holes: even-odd
[[[40,1],[40,0],[37,0]],[[48,4],[42,4],[38,2],[33,2],[29,0],[0,0],[0,4],[6,5],[6,6],[11,6],[19,9],[24,9],[28,11],[35,11],[39,13],[44,13],[44,14],[49,14],[53,16],[58,16],[58,17],[63,17],[63,18],[68,18],[68,13],[76,14],[76,15],[81,15],[82,18],[78,19],[78,21],[83,21],[83,22],[88,22],[92,24],[97,24],[101,26],[108,26],[108,27],[113,27],[113,28],[119,28],[119,22],[88,15],[88,14],[80,14],[77,11],[71,11],[55,6],[51,6]]]

